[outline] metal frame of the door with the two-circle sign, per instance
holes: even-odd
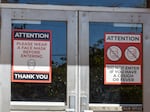
[[[120,22],[143,24],[143,108],[144,112],[149,111],[150,21],[148,18],[150,18],[150,10],[148,9],[103,8],[98,10],[97,8],[95,11],[92,9],[79,12],[79,75],[81,110],[89,108],[90,110],[95,111],[122,111],[122,107],[142,107],[142,104],[89,104],[89,22]]]

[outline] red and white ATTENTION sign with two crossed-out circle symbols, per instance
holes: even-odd
[[[142,84],[142,35],[105,33],[104,83]]]

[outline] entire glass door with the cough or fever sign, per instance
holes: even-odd
[[[80,108],[146,111],[148,12],[105,10],[79,13]]]

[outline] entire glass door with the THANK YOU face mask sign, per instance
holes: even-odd
[[[2,87],[7,85],[2,111],[10,111],[10,101],[12,111],[75,111],[77,11],[28,7],[1,12],[0,73]]]

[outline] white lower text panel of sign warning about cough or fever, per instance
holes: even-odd
[[[141,83],[140,65],[106,64],[105,83]]]

